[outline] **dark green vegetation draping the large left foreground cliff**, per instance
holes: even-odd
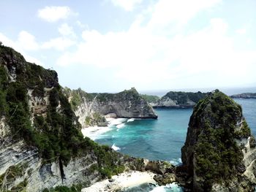
[[[15,82],[8,80],[7,70],[15,74]],[[116,152],[108,146],[97,145],[87,137],[83,138],[80,123],[58,83],[56,72],[27,63],[23,56],[12,48],[1,46],[0,82],[0,115],[6,117],[11,129],[10,136],[17,140],[23,139],[27,145],[37,147],[40,157],[44,159],[43,162],[59,160],[61,168],[67,165],[72,157],[93,151],[97,157],[97,171],[102,177],[123,172],[124,167],[121,166]],[[50,94],[50,104],[46,115],[34,115],[32,126],[28,89],[34,89],[34,96],[42,97],[45,95],[45,88],[48,88]],[[80,89],[78,93],[86,94],[89,99],[94,98]],[[74,100],[73,107],[77,107],[79,101]],[[94,118],[99,119],[97,114]],[[10,167],[10,171],[12,168]],[[17,170],[13,175],[20,175],[18,168],[15,169]],[[64,177],[63,170],[61,175]],[[26,181],[16,187],[21,188],[25,184]]]

